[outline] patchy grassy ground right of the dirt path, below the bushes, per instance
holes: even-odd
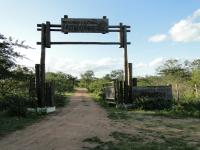
[[[93,99],[107,112],[108,117],[126,126],[112,132],[111,140],[88,138],[89,150],[197,150],[200,149],[200,120],[191,118],[180,109],[145,111],[109,107],[99,97]],[[174,111],[174,112],[173,112]],[[197,114],[198,115],[198,114]],[[190,118],[188,118],[190,116]],[[194,117],[194,115],[192,115]],[[125,121],[123,121],[125,119]],[[119,124],[121,127],[121,124]],[[118,130],[119,131],[119,130]],[[126,133],[124,133],[126,132]],[[127,134],[131,133],[131,134]]]

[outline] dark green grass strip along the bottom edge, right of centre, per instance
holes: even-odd
[[[98,137],[93,137],[83,142],[95,144],[93,147],[87,147],[88,150],[198,150],[199,146],[175,137],[163,137],[162,141],[158,141],[121,132],[112,132],[110,136],[113,140],[102,141]]]

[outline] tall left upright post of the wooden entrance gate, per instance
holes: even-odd
[[[40,59],[40,92],[41,92],[41,107],[45,106],[45,31],[46,25],[42,24],[41,31],[41,59]]]

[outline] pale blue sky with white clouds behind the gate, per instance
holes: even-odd
[[[17,49],[28,59],[19,64],[34,67],[40,61],[41,33],[37,24],[61,18],[102,18],[109,25],[131,26],[128,61],[133,76],[155,75],[167,59],[193,60],[200,57],[200,0],[0,0],[0,33],[25,40],[34,49]],[[118,42],[117,33],[51,33],[52,41]],[[123,49],[117,45],[52,45],[46,49],[46,71],[79,76],[93,70],[101,77],[123,69]]]

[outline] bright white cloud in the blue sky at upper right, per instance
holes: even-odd
[[[168,34],[160,34],[150,37],[151,42],[162,42],[171,39],[176,42],[196,42],[200,41],[200,9],[192,16],[175,23]]]

